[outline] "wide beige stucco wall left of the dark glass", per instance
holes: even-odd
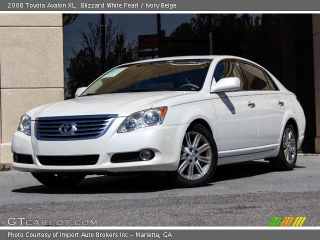
[[[63,99],[62,14],[0,14],[0,163],[28,109]]]

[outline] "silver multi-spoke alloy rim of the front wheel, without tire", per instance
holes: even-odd
[[[205,175],[212,159],[212,149],[202,134],[189,131],[184,135],[180,162],[177,172],[188,180],[196,180]]]

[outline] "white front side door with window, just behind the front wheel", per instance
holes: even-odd
[[[247,84],[234,59],[220,61],[214,71],[218,82],[224,77],[238,77],[241,89],[212,93],[217,121],[218,151],[257,146],[257,111],[252,93],[246,91]]]

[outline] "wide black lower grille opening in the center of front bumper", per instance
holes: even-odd
[[[37,156],[42,165],[76,166],[94,165],[99,155],[74,155],[74,156]]]

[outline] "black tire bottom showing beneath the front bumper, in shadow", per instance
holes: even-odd
[[[49,187],[71,187],[78,184],[85,177],[84,174],[65,174],[65,173],[39,173],[33,172],[32,175],[43,185]]]

